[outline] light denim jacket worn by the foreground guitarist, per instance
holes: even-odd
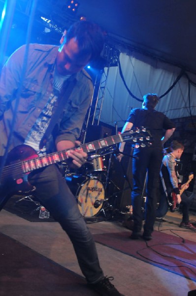
[[[53,91],[58,49],[59,47],[54,45],[30,44],[26,62],[26,45],[23,45],[10,56],[3,67],[0,76],[0,155],[4,154],[7,145],[13,116],[15,122],[9,150],[24,143],[46,105]],[[67,97],[66,89],[69,83],[74,83],[74,87]],[[65,81],[60,93],[60,99],[63,99],[65,104],[53,131],[56,144],[62,140],[74,142],[79,137],[92,95],[93,84],[84,70],[71,75]],[[57,106],[58,102],[55,108]]]

